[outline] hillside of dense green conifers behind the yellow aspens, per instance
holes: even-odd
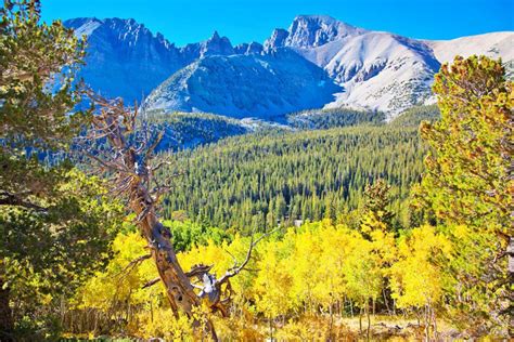
[[[164,212],[184,210],[194,221],[249,232],[294,220],[340,218],[359,207],[367,184],[391,184],[397,220],[420,181],[426,154],[416,128],[352,127],[232,137],[172,155],[179,173]],[[164,157],[164,156],[163,156]]]

